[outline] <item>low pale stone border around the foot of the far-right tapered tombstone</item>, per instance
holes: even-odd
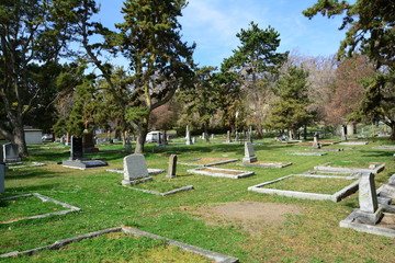
[[[368,232],[373,235],[380,235],[388,238],[395,238],[395,230],[391,228],[384,228],[380,226],[366,225],[356,221],[357,211],[359,209],[354,209],[346,219],[341,220],[339,226],[342,228],[351,228],[360,232]],[[385,216],[395,216],[394,214],[383,213]]]

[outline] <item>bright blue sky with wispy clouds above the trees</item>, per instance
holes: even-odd
[[[99,19],[112,27],[123,21],[123,0],[98,0]],[[302,11],[315,0],[189,0],[179,18],[182,39],[196,43],[194,60],[200,66],[221,66],[239,45],[236,34],[253,21],[260,28],[269,25],[280,33],[280,52],[304,56],[329,56],[337,52],[345,32],[338,31],[341,19],[321,15],[308,20]]]

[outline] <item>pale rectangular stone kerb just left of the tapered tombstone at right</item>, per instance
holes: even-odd
[[[331,176],[331,175],[315,175],[315,174],[290,174],[273,181],[264,182],[261,184],[257,184],[248,187],[248,191],[253,191],[263,194],[276,194],[295,198],[305,198],[305,199],[328,199],[332,202],[339,202],[342,198],[353,194],[357,192],[359,187],[359,180],[352,182],[347,185],[342,190],[336,192],[335,194],[317,194],[317,193],[308,193],[308,192],[298,192],[298,191],[290,191],[290,190],[274,190],[274,188],[264,188],[262,186],[268,184],[273,184],[282,180],[286,180],[291,176],[301,176],[301,178],[317,178],[317,179],[343,179],[343,180],[356,180],[356,178],[348,176]]]

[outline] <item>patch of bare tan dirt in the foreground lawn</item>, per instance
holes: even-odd
[[[180,207],[188,210],[187,207]],[[303,208],[295,205],[233,202],[212,207],[202,207],[193,211],[207,225],[238,225],[251,235],[259,235],[260,230],[270,226],[276,227],[286,215],[300,215]]]

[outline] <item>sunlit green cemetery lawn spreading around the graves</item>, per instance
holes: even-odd
[[[193,158],[241,160],[244,157],[242,145],[223,144],[223,139],[212,140],[211,144],[200,140],[192,146],[185,146],[183,141],[180,139],[165,148],[147,145],[147,167],[168,169],[169,155],[178,155],[179,162]],[[191,167],[178,165],[178,178],[167,179],[167,173],[161,173],[153,175],[154,182],[138,185],[158,192],[194,186],[194,190],[168,196],[124,187],[121,185],[122,174],[105,171],[122,168],[127,153],[123,152],[120,144],[99,146],[101,152],[87,155],[88,158],[106,161],[109,167],[84,171],[56,164],[69,158],[68,148],[53,149],[59,147],[56,144],[33,146],[41,149],[30,151],[31,156],[23,160],[23,164],[36,161],[47,165],[7,173],[5,193],[0,194],[0,198],[40,193],[82,210],[0,224],[0,254],[34,249],[105,228],[128,226],[248,263],[395,262],[393,239],[339,227],[339,221],[359,207],[358,193],[334,203],[247,191],[252,185],[289,174],[305,173],[316,165],[337,161],[354,161],[365,165],[369,162],[385,163],[385,170],[375,175],[377,188],[395,173],[394,151],[374,150],[372,146],[393,142],[382,138],[370,139],[368,146],[354,146],[323,157],[287,156],[289,151],[306,149],[306,146],[298,144],[280,144],[273,139],[255,142],[261,144],[253,146],[258,161],[293,164],[282,169],[239,167],[237,162],[215,167],[255,172],[252,176],[238,180],[192,174],[187,172]],[[285,180],[284,187],[290,187],[290,184],[305,187],[306,179],[302,180],[304,182]],[[332,194],[341,188],[335,185],[335,181],[319,179],[324,183],[313,184],[308,188],[313,188],[311,192],[328,191]],[[352,182],[340,181],[347,184]],[[36,197],[16,201],[1,203],[0,215],[5,220],[65,209],[58,205],[53,207],[53,203],[43,203]],[[24,202],[23,207],[30,207],[34,213],[25,215],[20,202]],[[225,206],[226,209],[221,213],[212,209],[217,206]],[[3,216],[5,214],[9,215]],[[0,259],[0,262],[167,262],[166,259],[170,262],[210,262],[162,241],[120,233],[74,242],[58,251],[44,250],[33,256]]]

